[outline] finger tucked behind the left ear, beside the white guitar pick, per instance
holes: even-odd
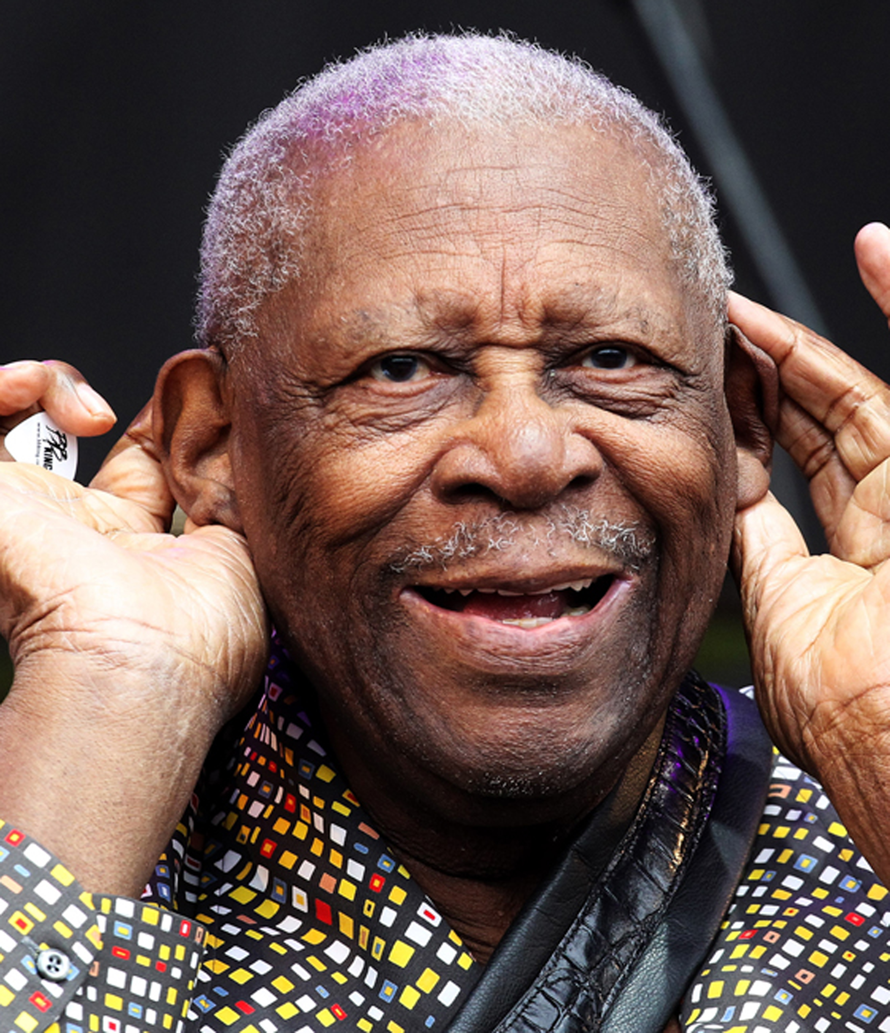
[[[176,499],[155,448],[151,402],[108,452],[90,487],[140,505],[159,531],[169,527]]]

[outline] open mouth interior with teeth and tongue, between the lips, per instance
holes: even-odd
[[[523,594],[499,588],[435,588],[415,585],[427,602],[441,609],[484,617],[518,628],[539,628],[564,617],[583,617],[605,596],[613,575],[554,585],[540,592]]]

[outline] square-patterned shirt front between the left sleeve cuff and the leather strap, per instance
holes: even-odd
[[[336,770],[275,643],[149,887],[206,931],[201,1031],[442,1029],[478,966]]]

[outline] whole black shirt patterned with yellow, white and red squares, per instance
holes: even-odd
[[[480,967],[350,792],[297,679],[275,643],[140,902],[83,893],[0,825],[0,1033],[447,1028]],[[684,1022],[890,1031],[886,895],[821,788],[780,758]]]

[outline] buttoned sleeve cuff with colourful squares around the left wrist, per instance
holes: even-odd
[[[10,1033],[149,1033],[182,1028],[203,929],[124,898],[84,893],[73,875],[0,821],[0,1028]],[[41,951],[67,959],[54,981]]]

